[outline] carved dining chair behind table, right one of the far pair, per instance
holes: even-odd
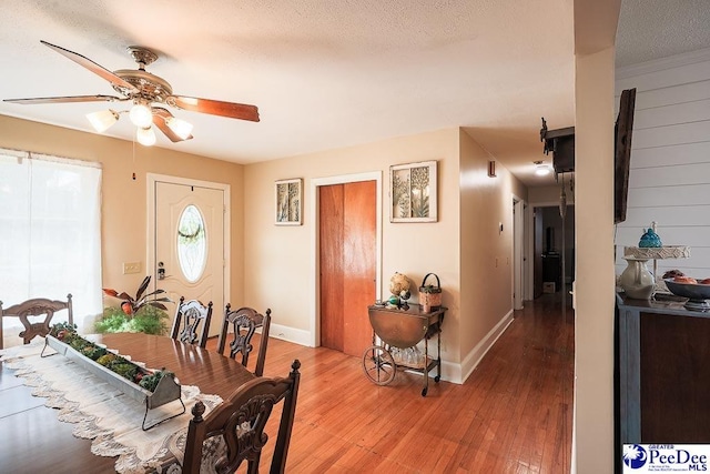
[[[258,355],[256,356],[256,366],[254,375],[262,376],[264,374],[264,362],[266,361],[266,347],[268,345],[268,329],[271,326],[271,309],[266,313],[260,314],[252,307],[240,307],[231,311],[230,303],[226,304],[224,311],[224,321],[222,331],[220,332],[220,341],[217,343],[217,352],[224,355],[226,340],[232,337],[230,342],[230,357],[236,359],[236,354],[242,354],[242,365],[245,367],[248,363],[248,355],[254,349],[252,345],[252,336],[257,327],[262,329],[258,343]],[[232,327],[233,333],[229,330]]]

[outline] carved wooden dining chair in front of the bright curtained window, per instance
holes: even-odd
[[[12,305],[7,310],[2,307],[0,301],[0,349],[3,349],[4,333],[2,330],[3,320],[6,317],[19,317],[24,326],[24,331],[20,332],[24,344],[29,344],[37,335],[47,336],[50,331],[49,323],[52,321],[54,313],[67,310],[69,324],[74,324],[74,314],[71,305],[71,293],[67,295],[67,301],[49,300],[47,297],[34,297],[22,303]],[[30,316],[44,316],[43,321],[30,321]]]

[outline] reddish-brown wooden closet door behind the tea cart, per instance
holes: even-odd
[[[320,188],[321,345],[361,356],[372,344],[376,182]]]

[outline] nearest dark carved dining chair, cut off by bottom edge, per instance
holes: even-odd
[[[246,382],[205,416],[202,416],[205,406],[202,401],[197,401],[192,407],[193,417],[187,427],[182,472],[197,474],[202,463],[203,442],[221,436],[226,444],[226,453],[216,460],[214,470],[217,473],[233,473],[246,461],[247,472],[257,474],[262,448],[268,441],[264,427],[274,405],[283,400],[270,468],[270,473],[283,473],[296,413],[301,382],[298,369],[301,362],[296,359],[286,377],[256,377]]]

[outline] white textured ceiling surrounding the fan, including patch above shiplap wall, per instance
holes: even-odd
[[[623,1],[622,8],[629,7],[619,32],[627,38],[619,46],[623,63],[670,51],[647,52],[657,42],[636,41],[643,24],[656,24],[640,22],[639,11],[674,11],[666,3],[708,10],[702,0]],[[574,125],[571,6],[571,0],[3,0],[0,99],[113,94],[108,82],[40,40],[109,70],[134,68],[125,48],[138,44],[160,54],[148,70],[170,81],[175,93],[255,104],[261,114],[261,122],[252,123],[173,110],[194,123],[194,139],[173,144],[159,134],[158,147],[250,163],[464,127],[526,184],[540,185],[551,183],[531,174],[532,161],[549,161],[539,142],[540,117],[550,129]],[[660,24],[674,31],[666,20]],[[698,38],[692,49],[710,46]],[[658,44],[671,40],[677,38],[665,36]],[[108,105],[0,102],[0,113],[91,131],[85,113]],[[133,128],[122,118],[106,134],[132,140]]]

